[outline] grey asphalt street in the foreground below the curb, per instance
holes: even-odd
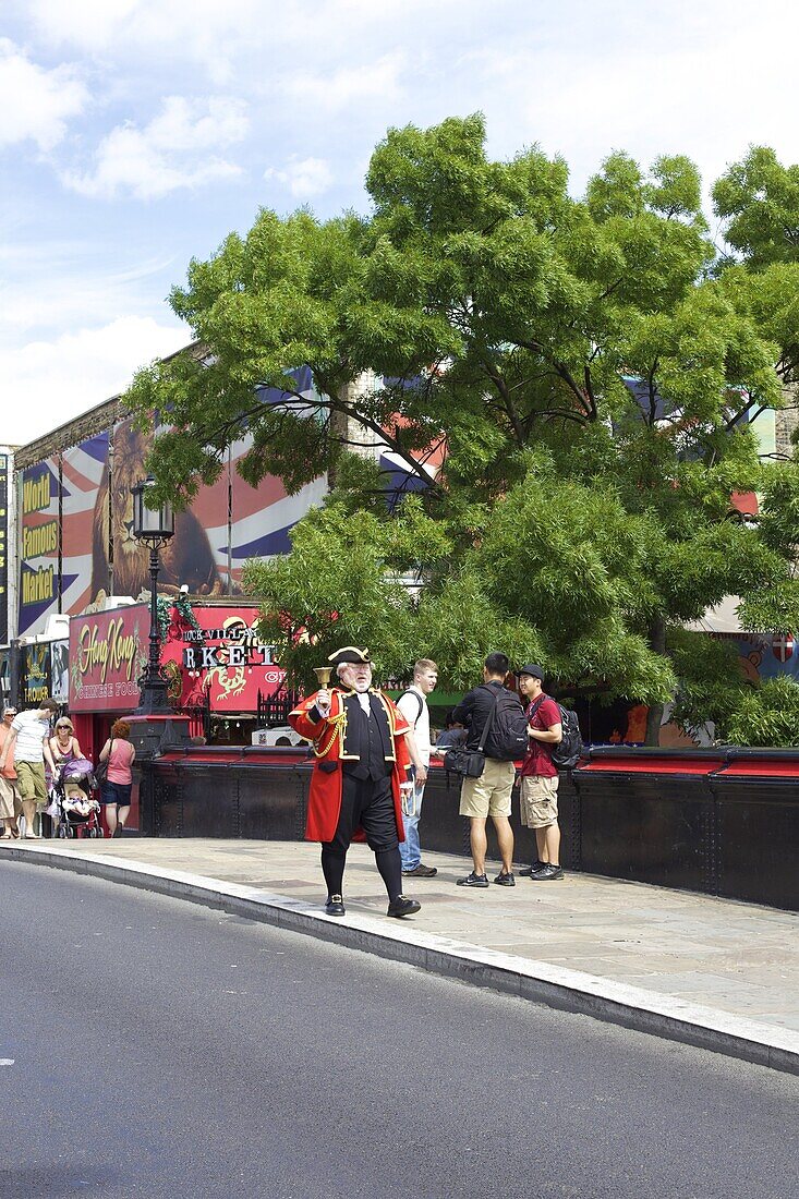
[[[764,1199],[799,1080],[0,863],[2,1199]]]

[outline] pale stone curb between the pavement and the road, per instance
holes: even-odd
[[[729,1058],[799,1074],[799,1034],[757,1024],[668,995],[626,987],[595,975],[483,950],[464,941],[421,933],[397,921],[370,916],[328,916],[302,900],[258,887],[221,882],[181,870],[164,870],[114,857],[72,855],[36,846],[2,846],[2,858],[47,866],[124,886],[218,908],[377,957],[420,966],[432,974],[488,987],[547,1007],[589,1016],[637,1032]]]

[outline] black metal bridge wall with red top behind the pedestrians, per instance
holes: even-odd
[[[685,773],[659,771],[668,752],[608,753],[613,769],[591,770],[589,763],[560,779],[566,869],[799,910],[799,751],[776,755],[781,775],[769,775],[764,752],[757,759],[762,773],[745,778],[725,770],[746,751],[705,754],[705,761],[701,751],[679,752],[689,766],[693,759],[693,772]],[[591,761],[605,755],[594,751]],[[625,769],[630,761],[638,769]],[[786,775],[786,761],[795,761],[795,777]],[[310,777],[310,763],[290,749],[242,749],[233,761],[210,748],[156,758],[142,763],[143,832],[301,839]],[[420,826],[423,849],[469,855],[458,799],[459,781],[433,767]],[[511,824],[516,861],[531,861],[535,838],[519,826],[516,794]],[[488,855],[498,858],[488,826]]]

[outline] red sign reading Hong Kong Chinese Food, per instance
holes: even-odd
[[[70,711],[131,712],[149,652],[150,609],[132,604],[70,620]]]

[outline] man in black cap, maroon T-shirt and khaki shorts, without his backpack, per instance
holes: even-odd
[[[558,825],[558,767],[552,746],[563,737],[560,709],[543,691],[543,670],[529,663],[516,671],[518,689],[528,700],[529,747],[522,763],[522,824],[535,831],[537,858],[519,870],[534,882],[563,878]]]

